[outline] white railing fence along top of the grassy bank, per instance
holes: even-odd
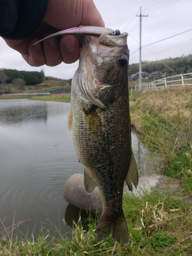
[[[156,89],[161,87],[169,87],[169,86],[184,86],[192,85],[192,73],[186,73],[186,74],[180,74],[180,75],[175,75],[175,76],[168,76],[168,77],[163,77],[157,80],[154,80],[150,83],[142,83],[141,84],[141,89]],[[139,84],[135,86],[135,90],[139,90]]]

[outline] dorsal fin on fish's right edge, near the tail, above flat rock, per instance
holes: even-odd
[[[130,191],[133,191],[132,183],[134,184],[135,188],[137,188],[137,185],[138,185],[138,182],[139,182],[137,163],[135,161],[135,157],[133,155],[133,152],[132,152],[130,167],[129,167],[125,182],[126,182]]]

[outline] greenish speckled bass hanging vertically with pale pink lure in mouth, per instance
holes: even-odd
[[[77,33],[83,35],[83,43],[72,79],[67,131],[73,133],[78,161],[84,165],[84,188],[91,194],[97,186],[101,194],[96,242],[112,233],[115,241],[127,244],[124,181],[131,191],[138,185],[131,143],[128,34],[86,26]]]

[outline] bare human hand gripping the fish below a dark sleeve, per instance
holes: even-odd
[[[34,34],[22,40],[4,40],[21,53],[29,65],[53,67],[62,61],[73,63],[79,58],[81,36],[64,35],[60,40],[53,37],[35,46],[34,42],[58,30],[80,25],[104,27],[93,0],[49,0],[44,20]]]

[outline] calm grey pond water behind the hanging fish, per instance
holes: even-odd
[[[30,235],[34,229],[38,234],[40,226],[50,224],[70,233],[79,218],[79,209],[63,198],[67,179],[83,174],[72,135],[66,133],[69,112],[66,102],[0,100],[0,219],[10,229],[13,220],[19,223],[15,233]],[[134,133],[132,146],[143,172],[150,166],[147,149]]]

